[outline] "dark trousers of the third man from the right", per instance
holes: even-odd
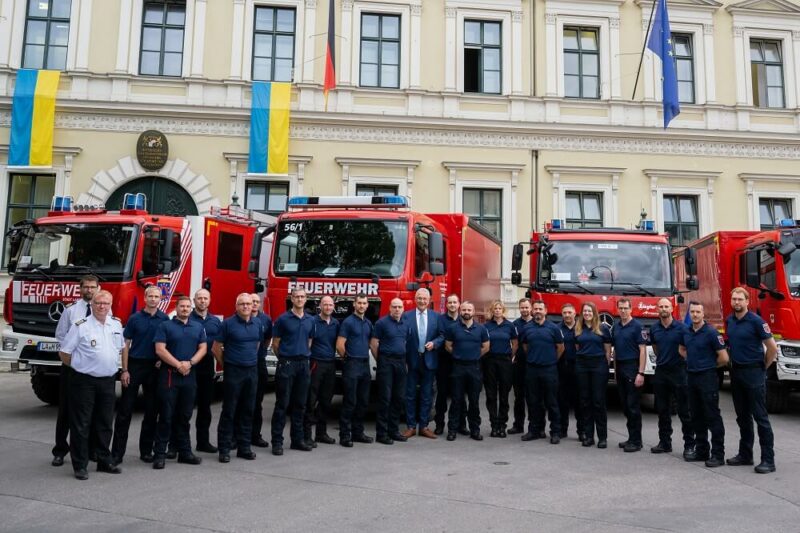
[[[653,376],[656,411],[658,411],[658,440],[672,444],[672,396],[678,403],[678,418],[681,420],[684,448],[694,446],[692,417],[689,413],[689,395],[686,382],[686,364],[657,366]]]

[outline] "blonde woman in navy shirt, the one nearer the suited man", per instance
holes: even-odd
[[[511,356],[517,351],[517,328],[505,317],[506,306],[500,300],[489,305],[484,324],[489,331],[489,353],[481,358],[486,409],[492,423],[492,437],[506,437],[508,394],[511,392]]]

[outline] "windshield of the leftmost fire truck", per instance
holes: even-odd
[[[131,271],[135,236],[136,227],[123,224],[34,225],[22,237],[16,272],[120,279]]]

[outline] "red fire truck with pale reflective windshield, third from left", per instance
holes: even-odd
[[[527,247],[527,251],[526,251]],[[613,326],[617,301],[629,298],[633,316],[646,330],[658,321],[658,300],[673,303],[676,291],[672,277],[669,237],[655,231],[652,220],[642,220],[637,229],[568,228],[553,220],[543,232],[534,232],[530,242],[514,246],[511,281],[522,285],[519,272],[525,254],[530,256],[527,295],[547,304],[548,318],[561,322],[561,306],[571,303],[580,314],[581,305],[592,302],[600,320]],[[646,382],[655,371],[655,354],[647,347]]]

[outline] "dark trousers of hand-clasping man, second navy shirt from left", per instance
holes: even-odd
[[[194,371],[182,376],[174,368],[162,365],[158,375],[158,426],[156,431],[156,457],[164,457],[171,444],[181,457],[192,455],[189,428],[197,394]]]

